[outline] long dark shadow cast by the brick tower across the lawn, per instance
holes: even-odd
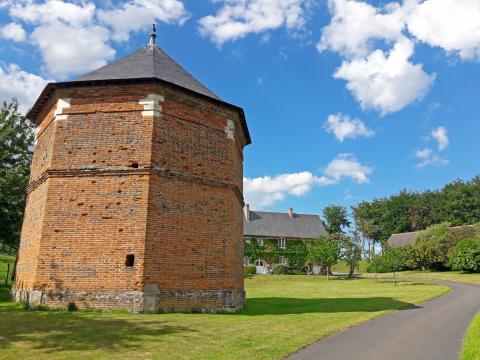
[[[415,304],[391,297],[366,298],[281,298],[265,297],[247,300],[238,315],[286,315],[306,313],[378,312],[418,308]]]

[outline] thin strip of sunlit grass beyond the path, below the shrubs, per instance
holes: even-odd
[[[464,273],[461,271],[402,271],[397,273],[397,275],[400,280],[437,280],[480,285],[480,274]],[[373,278],[375,275],[363,273],[362,277]],[[391,279],[393,278],[393,274],[377,274],[377,277],[381,279]]]

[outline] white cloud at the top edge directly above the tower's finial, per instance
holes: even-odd
[[[146,30],[157,21],[182,25],[188,17],[179,0],[132,0],[98,12],[98,18],[112,27],[117,41],[126,41],[131,32]]]

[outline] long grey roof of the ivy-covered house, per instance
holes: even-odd
[[[244,215],[244,236],[314,239],[326,233],[318,215],[294,213],[290,218],[288,213],[250,211],[250,221]]]

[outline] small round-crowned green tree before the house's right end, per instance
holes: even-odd
[[[315,240],[306,242],[307,262],[322,265],[327,268],[327,279],[330,279],[330,268],[340,258],[340,246],[332,236],[320,236]]]

